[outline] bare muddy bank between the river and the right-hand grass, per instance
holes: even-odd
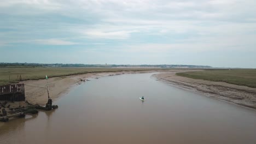
[[[190,79],[175,74],[176,72],[170,72],[155,74],[154,76],[157,80],[170,83],[173,86],[256,110],[256,88],[225,82]]]

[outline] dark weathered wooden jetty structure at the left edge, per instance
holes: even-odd
[[[24,83],[0,86],[0,100],[24,101]]]

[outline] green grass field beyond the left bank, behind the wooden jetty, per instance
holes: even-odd
[[[16,83],[20,81],[20,75],[22,80],[38,80],[45,79],[45,75],[48,77],[67,76],[75,74],[85,74],[92,72],[104,72],[104,71],[141,71],[150,70],[146,68],[77,68],[77,67],[0,67],[0,85],[7,85],[9,83]],[[152,70],[152,69],[151,69]],[[155,69],[156,70],[156,69]],[[10,79],[9,79],[10,78]]]

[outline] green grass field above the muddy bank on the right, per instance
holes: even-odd
[[[235,85],[256,87],[256,69],[203,70],[177,73],[193,79],[222,81]]]

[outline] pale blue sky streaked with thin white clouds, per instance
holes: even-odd
[[[255,0],[0,0],[0,62],[256,68]]]

